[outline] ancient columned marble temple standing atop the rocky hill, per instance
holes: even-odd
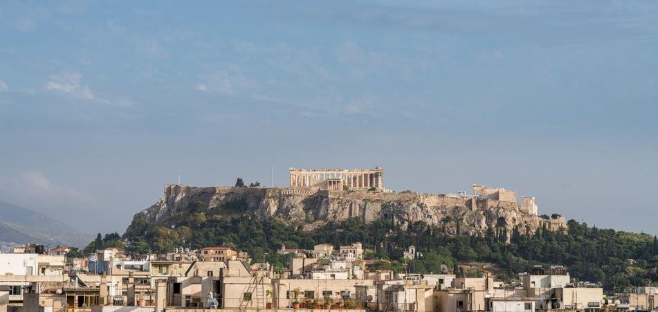
[[[290,168],[291,187],[320,187],[321,190],[373,188],[383,190],[383,169],[296,169]]]

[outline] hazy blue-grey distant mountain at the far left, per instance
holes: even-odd
[[[46,214],[0,201],[0,242],[84,247],[91,239]]]

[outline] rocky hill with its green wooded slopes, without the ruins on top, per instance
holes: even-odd
[[[385,260],[372,268],[437,273],[446,264],[457,274],[488,271],[510,281],[535,264],[565,265],[572,277],[615,291],[658,279],[656,237],[563,219],[511,202],[413,192],[178,187],[136,214],[124,237],[136,253],[226,245],[279,267],[288,260],[276,253],[282,245],[360,241],[369,259]],[[423,257],[403,266],[410,245]]]

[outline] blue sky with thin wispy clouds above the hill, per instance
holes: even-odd
[[[473,183],[658,235],[656,1],[0,1],[0,201],[124,232],[163,185]],[[272,181],[271,175],[274,175]]]

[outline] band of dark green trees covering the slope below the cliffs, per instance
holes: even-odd
[[[259,219],[253,214],[242,214],[239,203],[219,213],[206,210],[199,203],[172,214],[161,224],[153,226],[145,219],[135,219],[124,237],[127,248],[136,253],[163,253],[183,246],[202,248],[226,245],[246,250],[254,259],[266,259],[275,266],[286,266],[289,256],[276,250],[286,248],[312,249],[315,244],[329,243],[338,247],[355,241],[363,243],[369,259],[383,259],[375,268],[410,270],[416,273],[438,273],[446,264],[457,274],[481,275],[466,272],[459,264],[488,262],[496,264],[499,276],[508,281],[516,274],[529,271],[534,264],[565,265],[572,277],[580,281],[601,282],[607,290],[620,291],[631,286],[644,286],[658,279],[658,243],[646,234],[599,229],[570,220],[568,228],[552,232],[538,228],[524,234],[504,225],[488,227],[486,233],[457,234],[443,225],[428,225],[423,221],[406,228],[394,219],[364,222],[359,218],[329,221],[313,230],[304,230],[304,223],[284,223],[277,219]],[[444,220],[451,226],[455,220]],[[509,243],[506,243],[509,241]],[[417,246],[421,259],[408,261],[403,266],[403,250]],[[630,260],[632,259],[632,260]],[[632,264],[633,263],[633,264]]]

